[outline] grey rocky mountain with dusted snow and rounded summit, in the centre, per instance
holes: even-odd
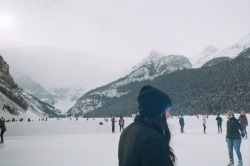
[[[111,98],[121,97],[127,91],[117,91],[122,85],[136,81],[150,80],[164,73],[171,73],[182,69],[191,69],[188,58],[182,55],[168,55],[152,51],[141,63],[134,66],[125,77],[108,85],[91,90],[82,96],[77,103],[67,112],[68,116],[81,116],[93,111],[108,102]]]

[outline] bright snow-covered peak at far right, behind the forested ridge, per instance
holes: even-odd
[[[214,46],[208,46],[200,54],[190,58],[193,68],[200,68],[205,63],[219,57],[235,58],[240,52],[250,47],[250,33],[232,46],[218,51]]]

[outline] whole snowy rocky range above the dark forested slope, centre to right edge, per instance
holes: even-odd
[[[152,51],[147,58],[134,66],[125,77],[87,92],[67,114],[68,116],[82,116],[93,110],[99,110],[104,105],[105,108],[108,108],[107,105],[111,103],[111,100],[114,104],[116,98],[118,101],[120,97],[129,94],[130,90],[128,87],[130,84],[134,85],[140,81],[155,80],[155,78],[162,76],[164,73],[171,73],[177,70],[200,68],[203,65],[218,65],[237,57],[240,52],[249,47],[250,34],[222,51],[219,51],[215,46],[208,46],[199,55],[190,58],[191,62],[188,58],[181,55],[165,56],[162,53]],[[108,115],[109,113],[107,112],[106,114]]]

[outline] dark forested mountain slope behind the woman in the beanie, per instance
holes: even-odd
[[[131,116],[138,112],[137,96],[143,85],[166,92],[172,100],[171,114],[224,114],[250,110],[250,48],[235,59],[199,69],[166,73],[154,80],[121,87],[129,93],[113,98],[84,117]],[[229,72],[230,71],[230,72]],[[117,89],[121,91],[122,89]]]

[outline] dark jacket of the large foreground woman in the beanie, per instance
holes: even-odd
[[[146,126],[140,115],[120,136],[119,166],[171,166],[169,156],[164,137]]]

